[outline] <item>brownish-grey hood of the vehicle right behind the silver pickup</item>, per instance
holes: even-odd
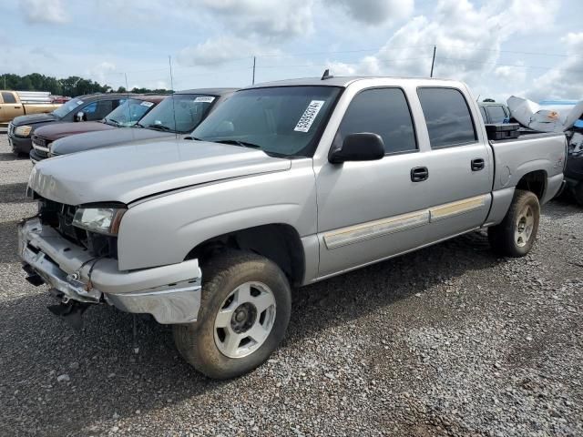
[[[118,146],[132,141],[163,137],[175,137],[175,134],[153,129],[140,129],[138,127],[113,128],[111,130],[89,132],[87,134],[76,135],[75,137],[57,139],[51,145],[51,153],[53,155],[66,155],[83,150]]]

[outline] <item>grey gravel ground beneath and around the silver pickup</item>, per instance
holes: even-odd
[[[583,436],[583,209],[544,208],[535,249],[476,233],[294,292],[287,339],[209,381],[171,331],[108,308],[86,330],[26,283],[26,159],[0,134],[0,435]]]

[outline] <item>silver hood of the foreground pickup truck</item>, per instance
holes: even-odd
[[[152,140],[49,158],[28,185],[67,205],[128,204],[165,191],[291,168],[291,160],[261,150],[185,139]]]

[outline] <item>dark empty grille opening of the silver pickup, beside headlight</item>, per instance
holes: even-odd
[[[64,238],[88,250],[93,257],[118,259],[118,238],[73,226],[78,207],[39,198],[39,215],[43,226],[56,229]]]

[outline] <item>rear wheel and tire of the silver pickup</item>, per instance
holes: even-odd
[[[517,189],[506,217],[488,229],[492,249],[506,257],[524,257],[537,239],[540,205],[531,191]]]

